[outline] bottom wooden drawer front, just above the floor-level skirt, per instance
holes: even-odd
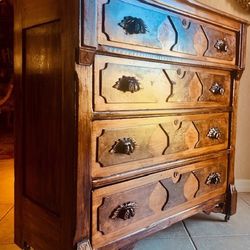
[[[226,169],[221,156],[95,190],[94,247],[223,194]]]

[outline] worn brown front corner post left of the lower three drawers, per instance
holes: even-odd
[[[91,67],[77,66],[78,76],[78,163],[77,163],[77,205],[76,230],[74,242],[90,238],[91,225],[91,109],[89,107],[89,92],[92,74]]]

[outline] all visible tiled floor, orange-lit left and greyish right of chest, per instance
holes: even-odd
[[[0,250],[18,250],[13,240],[13,160],[0,160]],[[221,214],[198,214],[138,242],[134,250],[248,250],[250,193],[241,193],[229,222]],[[55,249],[56,250],[56,249]]]

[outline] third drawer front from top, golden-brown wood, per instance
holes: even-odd
[[[92,175],[110,176],[226,149],[228,114],[95,121],[92,136]]]

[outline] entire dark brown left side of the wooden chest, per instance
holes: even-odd
[[[76,6],[15,0],[15,242],[21,248],[74,248]]]

